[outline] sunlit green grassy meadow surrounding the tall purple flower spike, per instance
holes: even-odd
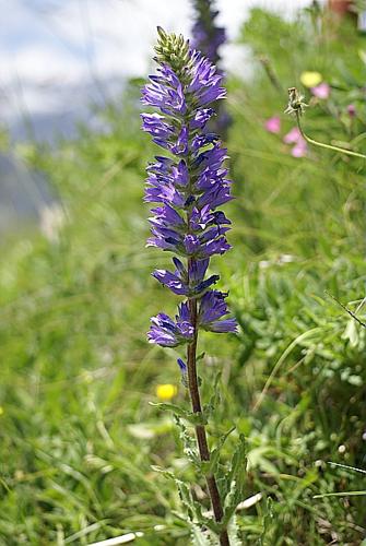
[[[290,86],[309,100],[300,74],[319,71],[331,93],[304,127],[365,153],[366,38],[317,8],[292,21],[255,9],[237,47],[247,76],[227,76],[233,250],[214,269],[240,332],[201,337],[205,401],[222,371],[210,430],[236,426],[223,464],[247,438],[246,495],[260,496],[237,513],[243,544],[359,545],[364,475],[329,462],[365,468],[366,337],[330,295],[353,311],[365,296],[365,162],[314,147],[292,156],[283,110]],[[95,109],[103,130],[81,123],[73,138],[15,150],[2,134],[2,153],[45,173],[60,206],[43,234],[26,226],[2,240],[1,546],[137,531],[139,545],[189,543],[174,484],[152,470],[192,472],[173,419],[150,405],[164,383],[188,400],[174,349],[145,340],[163,299],[167,312],[176,300],[151,277],[168,257],[144,248],[156,149],[140,130],[142,83]],[[280,133],[265,130],[272,116]]]

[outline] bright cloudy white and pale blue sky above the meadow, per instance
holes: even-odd
[[[234,40],[250,7],[293,13],[309,0],[217,0]],[[189,35],[189,0],[0,0],[0,123],[82,117],[151,67],[156,26]],[[241,49],[226,46],[229,70]],[[59,121],[57,121],[59,117]],[[52,129],[52,128],[50,128]]]

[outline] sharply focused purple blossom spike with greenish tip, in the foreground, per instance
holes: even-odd
[[[170,156],[156,156],[146,169],[144,200],[157,203],[147,245],[176,254],[172,271],[157,269],[153,276],[187,300],[175,320],[165,313],[153,317],[147,339],[175,347],[191,344],[200,328],[236,331],[235,319],[227,318],[227,294],[211,289],[219,275],[206,275],[211,256],[231,248],[231,222],[217,206],[232,199],[232,181],[224,166],[226,150],[215,133],[205,131],[212,104],[226,95],[223,75],[182,37],[162,29],[160,37],[160,68],[142,91],[142,103],[158,112],[142,114],[142,129]],[[178,365],[185,372],[185,363],[179,359]]]

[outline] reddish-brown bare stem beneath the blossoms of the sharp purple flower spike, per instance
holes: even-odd
[[[187,349],[187,368],[188,368],[188,389],[189,395],[192,404],[193,413],[202,413],[200,390],[197,377],[197,365],[196,365],[196,354],[197,354],[197,300],[189,300],[189,311],[191,322],[194,329],[194,337],[192,343],[188,345]],[[196,437],[197,443],[200,452],[201,461],[210,461],[210,450],[208,444],[208,438],[204,425],[196,426]],[[216,484],[215,476],[213,474],[206,475],[205,480],[208,484],[208,489],[211,498],[212,509],[217,522],[223,519],[223,508],[220,499],[219,488]],[[229,546],[227,531],[223,530],[220,533],[220,544],[221,546]]]

